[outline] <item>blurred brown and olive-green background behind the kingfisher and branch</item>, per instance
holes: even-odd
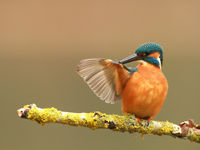
[[[41,126],[16,110],[36,103],[71,112],[121,113],[76,73],[81,59],[122,59],[145,42],[164,47],[169,93],[156,120],[200,122],[200,1],[0,1],[0,149],[199,149],[168,136]],[[132,64],[135,66],[136,64]]]

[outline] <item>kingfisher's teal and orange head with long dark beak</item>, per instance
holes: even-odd
[[[160,67],[163,63],[163,49],[156,43],[145,43],[136,49],[135,54],[122,59],[119,63],[126,64],[137,60],[143,60]]]

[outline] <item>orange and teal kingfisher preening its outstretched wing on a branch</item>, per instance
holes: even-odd
[[[136,67],[125,64],[137,61]],[[150,122],[160,112],[168,92],[161,66],[163,48],[144,43],[135,53],[114,61],[105,58],[83,59],[77,72],[91,90],[106,103],[122,100],[122,112]]]

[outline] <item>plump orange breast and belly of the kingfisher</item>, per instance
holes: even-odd
[[[140,64],[122,93],[123,113],[154,118],[161,110],[168,91],[162,71],[152,64]]]

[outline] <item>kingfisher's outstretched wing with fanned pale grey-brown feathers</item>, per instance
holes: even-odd
[[[130,77],[121,64],[104,58],[81,60],[77,72],[100,99],[111,104],[121,99]]]

